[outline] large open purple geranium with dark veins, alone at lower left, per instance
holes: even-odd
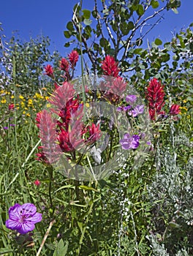
[[[22,206],[15,203],[9,209],[9,219],[5,222],[10,230],[17,230],[20,234],[26,234],[35,228],[37,222],[41,222],[42,214],[37,213],[33,203],[24,203]]]

